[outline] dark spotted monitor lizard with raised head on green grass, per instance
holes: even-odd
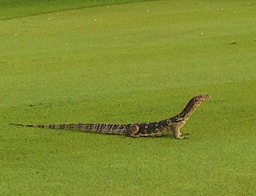
[[[189,100],[185,108],[174,117],[158,122],[130,123],[125,125],[103,124],[103,123],[79,123],[79,124],[60,124],[60,125],[23,125],[11,123],[10,125],[40,127],[49,129],[77,130],[82,132],[116,134],[126,137],[160,137],[163,135],[174,134],[176,139],[187,139],[180,133],[181,127],[185,125],[191,114],[209,99],[210,95],[197,95]],[[188,133],[187,133],[188,134]]]

